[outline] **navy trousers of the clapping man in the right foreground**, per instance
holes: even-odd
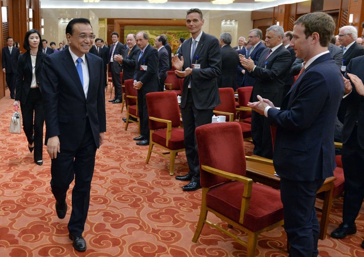
[[[281,200],[283,203],[285,231],[291,245],[289,256],[317,256],[320,224],[314,204],[316,191],[324,179],[293,181],[281,177]]]

